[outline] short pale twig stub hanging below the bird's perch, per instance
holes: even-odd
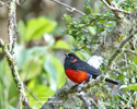
[[[87,99],[87,97],[84,97],[84,92],[79,93],[78,97],[85,102],[87,105],[87,109],[91,109],[91,102],[89,99]]]

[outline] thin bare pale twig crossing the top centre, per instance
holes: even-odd
[[[67,9],[69,12],[75,12],[75,11],[76,11],[76,12],[78,12],[78,13],[84,15],[84,13],[81,12],[80,10],[78,10],[78,9],[76,9],[76,8],[72,8],[72,7],[70,7],[70,5],[66,4],[66,3],[62,3],[62,2],[60,2],[60,1],[58,1],[58,0],[52,0],[52,1],[54,1],[54,2],[56,2],[56,3],[58,3],[58,4],[60,4],[60,5],[66,7],[66,9]]]

